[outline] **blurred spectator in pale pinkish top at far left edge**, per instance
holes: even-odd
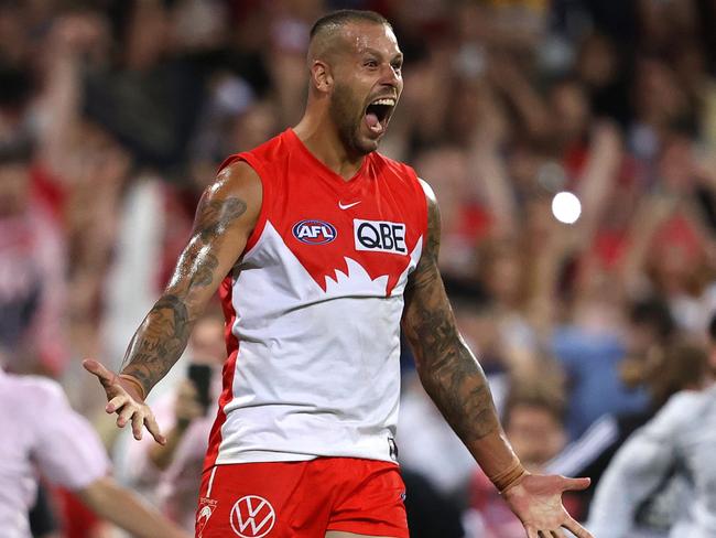
[[[11,370],[55,377],[67,361],[66,245],[31,194],[32,155],[28,140],[0,143],[0,349]]]

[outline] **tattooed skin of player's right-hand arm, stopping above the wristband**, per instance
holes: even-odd
[[[437,266],[440,211],[432,192],[427,197],[428,237],[405,290],[403,333],[425,391],[490,475],[490,467],[501,470],[514,455],[505,440],[482,368],[457,331]],[[486,462],[488,445],[489,451],[498,452],[495,465]]]

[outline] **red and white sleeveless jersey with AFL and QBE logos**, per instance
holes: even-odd
[[[373,152],[345,181],[291,129],[223,166],[239,160],[263,203],[220,291],[229,357],[206,466],[391,461],[403,290],[427,228],[415,172]]]

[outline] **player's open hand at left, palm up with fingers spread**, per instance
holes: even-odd
[[[108,370],[101,363],[94,359],[85,359],[82,365],[87,372],[94,374],[107,392],[107,407],[105,410],[111,415],[116,412],[117,426],[124,428],[129,422],[132,424],[134,439],[142,439],[142,427],[152,434],[154,441],[166,444],[166,438],[162,435],[154,413],[142,398],[140,391],[130,381],[122,379],[113,372]]]

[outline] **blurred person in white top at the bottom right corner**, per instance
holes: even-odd
[[[609,464],[589,510],[588,526],[595,536],[626,538],[661,531],[674,538],[706,538],[716,534],[716,388],[710,375],[716,364],[699,345],[686,344],[676,352],[679,362],[672,361],[670,368],[677,373],[672,379],[681,381],[682,390],[629,438]],[[658,397],[671,391],[661,383],[654,386]],[[685,478],[686,485],[670,491],[666,485],[677,477]],[[654,502],[654,496],[668,494],[665,502]],[[650,519],[659,509],[666,514]],[[654,529],[654,523],[661,528]]]

